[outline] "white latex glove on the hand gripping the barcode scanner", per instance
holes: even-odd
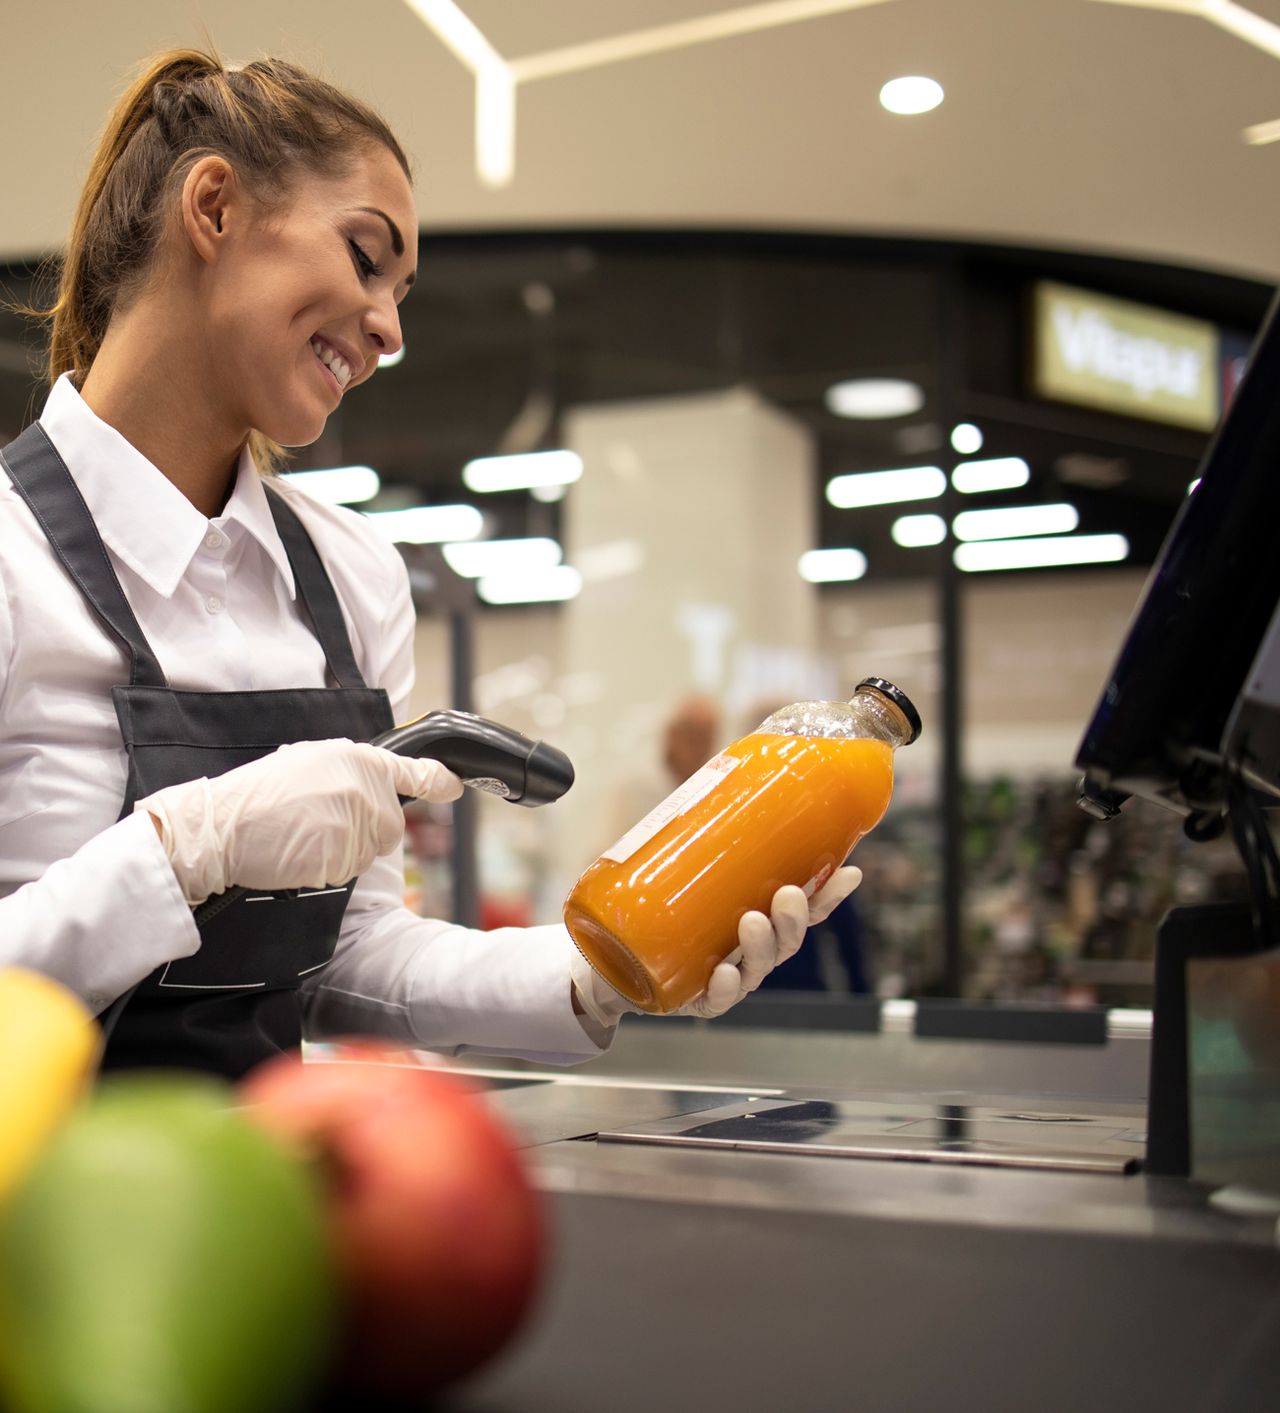
[[[237,885],[264,890],[348,883],[404,834],[398,796],[448,801],[462,781],[438,760],[353,740],[302,740],[212,780],[138,800],[160,827],[195,907]]]

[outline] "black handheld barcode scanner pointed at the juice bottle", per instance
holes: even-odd
[[[574,764],[562,750],[468,711],[428,712],[383,732],[372,745],[397,756],[438,760],[465,786],[510,804],[551,804],[574,783]]]

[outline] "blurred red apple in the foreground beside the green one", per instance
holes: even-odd
[[[343,1383],[413,1397],[493,1355],[530,1307],[537,1194],[475,1088],[377,1041],[281,1056],[244,1078],[250,1115],[328,1178],[346,1293]]]

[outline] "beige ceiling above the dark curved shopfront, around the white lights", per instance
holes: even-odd
[[[129,72],[164,45],[212,40],[227,59],[301,59],[380,106],[414,155],[428,232],[879,232],[1276,277],[1280,143],[1250,147],[1240,133],[1280,119],[1280,59],[1174,13],[1198,3],[862,0],[521,83],[514,179],[494,191],[475,171],[472,78],[403,0],[11,0],[0,260],[61,242]],[[509,59],[743,8],[461,6]],[[1280,0],[1248,0],[1248,10],[1280,25]],[[918,117],[887,114],[879,89],[901,73],[934,76],[947,100]]]

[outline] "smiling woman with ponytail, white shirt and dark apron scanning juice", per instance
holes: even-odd
[[[109,1065],[237,1075],[357,1031],[568,1064],[612,1037],[562,926],[404,907],[398,797],[462,788],[367,745],[407,715],[408,575],[261,475],[400,349],[415,261],[396,138],[294,65],[168,54],[107,122],[52,389],[0,456],[0,964],[110,1007]],[[835,901],[791,892],[711,1010]]]

